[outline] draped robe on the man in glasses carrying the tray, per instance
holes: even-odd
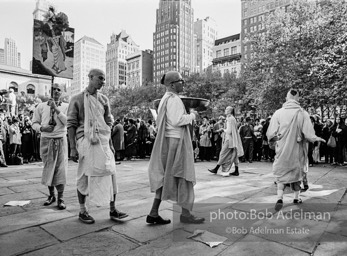
[[[148,167],[151,192],[162,189],[162,200],[173,200],[178,205],[192,210],[195,181],[194,155],[189,126],[184,125],[181,138],[165,137],[166,108],[169,97],[166,93],[158,110],[158,134]],[[183,105],[183,102],[182,102]]]

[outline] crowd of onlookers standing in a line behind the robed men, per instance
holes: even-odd
[[[33,113],[30,111],[27,115],[11,116],[0,109],[0,167],[41,161],[41,132],[32,127]],[[320,162],[344,165],[347,161],[347,119],[337,116],[335,119],[322,120],[318,115],[311,115],[310,119],[316,135],[326,142],[309,143],[309,165]],[[201,121],[194,123],[192,140],[195,161],[218,161],[224,137],[223,128],[226,128],[225,120],[223,115],[218,119],[204,116]],[[266,136],[271,116],[266,119],[241,117],[236,120],[245,153],[240,158],[241,162],[273,162],[275,151],[269,147]],[[156,122],[151,119],[116,119],[111,131],[116,161],[149,158],[156,134]],[[331,141],[333,143],[329,143]]]

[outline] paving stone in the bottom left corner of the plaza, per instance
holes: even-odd
[[[18,230],[0,235],[0,255],[17,255],[57,243],[57,239],[39,227]]]

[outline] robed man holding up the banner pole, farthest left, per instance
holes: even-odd
[[[66,138],[66,115],[68,104],[61,102],[63,87],[53,84],[53,99],[40,103],[34,111],[33,129],[41,133],[40,155],[43,162],[41,183],[48,186],[49,196],[45,206],[56,201],[54,187],[58,192],[58,209],[66,208],[63,200],[68,169],[68,146]],[[55,125],[50,120],[54,119]]]

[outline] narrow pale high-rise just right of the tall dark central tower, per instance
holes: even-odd
[[[217,23],[211,17],[197,19],[194,22],[194,33],[196,35],[196,66],[197,72],[203,73],[212,65],[213,46],[217,39]]]

